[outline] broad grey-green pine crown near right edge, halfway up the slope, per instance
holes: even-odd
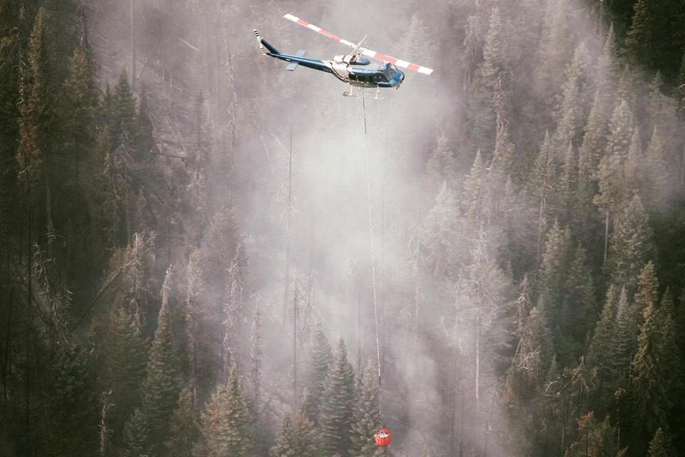
[[[637,286],[642,266],[656,256],[654,231],[639,196],[633,196],[617,221],[612,236],[609,271],[612,282],[626,286],[631,295]]]

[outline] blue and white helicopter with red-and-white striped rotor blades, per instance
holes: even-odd
[[[295,71],[298,65],[305,66],[310,69],[315,69],[319,71],[325,71],[326,73],[333,74],[340,81],[350,84],[350,91],[345,91],[342,93],[343,96],[350,97],[365,97],[364,89],[371,88],[376,89],[375,96],[369,97],[376,100],[382,100],[380,97],[380,89],[386,89],[394,87],[395,89],[400,89],[402,81],[405,80],[405,74],[397,69],[400,67],[402,69],[410,69],[413,71],[418,71],[421,74],[430,75],[432,69],[425,66],[420,66],[417,64],[412,64],[410,62],[404,61],[402,59],[395,59],[395,57],[387,56],[386,54],[381,54],[380,52],[372,51],[370,49],[362,48],[362,43],[366,39],[366,36],[359,41],[359,43],[354,44],[351,41],[340,38],[335,34],[325,31],[314,24],[310,24],[304,19],[300,19],[293,14],[285,14],[283,16],[289,21],[295,22],[295,24],[300,24],[305,26],[310,30],[316,31],[319,34],[328,36],[328,38],[338,41],[341,44],[350,46],[352,48],[352,54],[346,54],[342,56],[335,56],[331,60],[323,59],[310,59],[305,57],[307,51],[300,49],[297,54],[283,54],[282,52],[275,49],[268,41],[263,39],[258,31],[254,31],[257,37],[257,42],[259,44],[259,49],[265,56],[271,56],[275,59],[280,59],[283,61],[290,62],[290,64],[285,67],[288,71]],[[381,64],[375,70],[358,68],[355,65],[367,66],[371,64],[371,61],[367,59],[370,57],[372,59],[377,59],[381,61]],[[355,94],[354,88],[360,87],[361,94]],[[365,97],[367,98],[367,97]]]

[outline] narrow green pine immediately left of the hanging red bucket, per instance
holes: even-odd
[[[377,372],[369,361],[357,383],[355,408],[352,415],[352,449],[350,456],[382,456],[382,449],[373,441],[373,434],[381,426],[380,393]]]

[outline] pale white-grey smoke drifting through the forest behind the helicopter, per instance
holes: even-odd
[[[96,31],[103,82],[113,81],[118,69],[130,67],[128,2],[123,3],[93,1],[91,5],[91,30]],[[138,87],[146,88],[153,98],[156,136],[190,138],[193,104],[202,95],[204,129],[213,141],[212,161],[218,163],[222,154],[232,156],[230,176],[214,181],[208,194],[214,206],[223,202],[233,207],[245,239],[246,288],[253,294],[251,300],[259,297],[265,316],[265,388],[289,388],[285,378],[292,369],[286,343],[290,324],[281,322],[292,133],[290,281],[297,284],[290,286],[290,293],[297,287],[312,298],[313,316],[324,324],[331,341],[345,338],[353,366],[358,344],[364,361],[375,357],[367,154],[370,159],[379,331],[384,343],[382,395],[385,421],[395,431],[395,455],[417,455],[424,448],[429,455],[451,453],[455,450],[446,447],[455,439],[465,451],[488,446],[490,456],[508,455],[497,448],[492,433],[506,422],[502,380],[495,370],[498,355],[493,351],[481,354],[481,398],[474,398],[475,336],[467,326],[473,316],[456,310],[477,308],[477,303],[459,303],[475,297],[460,295],[458,284],[422,277],[412,265],[408,246],[420,236],[435,206],[435,189],[440,188],[426,182],[425,164],[442,134],[460,164],[458,175],[467,174],[476,154],[466,122],[470,94],[462,91],[463,41],[470,17],[480,24],[482,40],[492,7],[502,10],[507,64],[512,74],[522,76],[512,81],[510,96],[512,105],[524,111],[515,114],[510,129],[517,161],[527,163],[537,154],[544,130],[554,129],[530,110],[537,101],[549,104],[550,96],[559,95],[559,82],[577,44],[584,41],[596,61],[604,31],[575,1],[563,1],[566,16],[552,22],[552,27],[559,27],[556,30],[544,24],[545,4],[555,7],[554,0],[443,0],[430,5],[414,0],[188,1],[177,2],[169,12],[164,12],[166,5],[154,1],[141,4],[134,15]],[[424,76],[406,71],[399,90],[382,91],[385,100],[366,100],[362,107],[361,99],[341,96],[347,88],[333,76],[305,68],[286,72],[283,62],[259,53],[252,29],[259,29],[283,52],[307,49],[308,56],[330,59],[348,51],[280,19],[286,12],[353,42],[367,35],[364,46],[435,72]],[[530,33],[514,35],[514,30]],[[551,40],[547,56],[554,61],[540,61],[540,34]],[[226,66],[229,58],[230,67]],[[541,81],[534,74],[541,65],[556,76]],[[229,108],[233,108],[230,113]],[[231,140],[235,148],[229,148],[225,139],[233,118],[237,134]],[[187,154],[183,148],[173,152]],[[482,154],[486,161],[492,158],[492,151]],[[458,199],[460,189],[454,190]],[[472,258],[473,240],[482,236],[465,233],[457,240],[462,258]],[[496,263],[500,246],[485,244],[482,254],[489,258],[484,264]],[[350,263],[356,266],[358,283],[350,274]],[[487,268],[497,270],[493,273],[501,292],[497,299],[505,306],[515,296],[514,279],[494,263]],[[357,341],[357,294],[361,341]],[[507,336],[501,336],[505,345]],[[445,366],[445,361],[450,364]],[[468,368],[457,373],[461,368],[451,361]],[[468,411],[462,413],[464,408]]]

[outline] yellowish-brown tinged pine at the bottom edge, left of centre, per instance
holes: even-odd
[[[253,448],[250,416],[238,384],[238,371],[231,368],[225,387],[219,387],[201,414],[201,441],[195,453],[206,457],[247,457]]]

